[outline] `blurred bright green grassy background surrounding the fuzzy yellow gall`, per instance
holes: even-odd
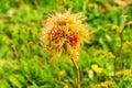
[[[50,62],[38,40],[41,22],[68,8],[86,15],[89,25],[90,40],[77,62],[81,88],[112,80],[114,56],[117,72],[130,74],[108,88],[132,87],[132,0],[0,0],[0,88],[76,88],[74,65]]]

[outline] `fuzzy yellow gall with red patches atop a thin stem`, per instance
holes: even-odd
[[[88,29],[79,13],[55,13],[42,22],[41,37],[45,43],[46,53],[52,58],[67,55],[78,58],[84,42],[88,38]]]

